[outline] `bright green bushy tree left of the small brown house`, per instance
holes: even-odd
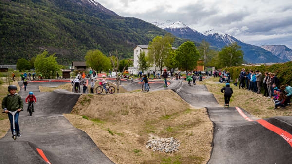
[[[44,78],[51,79],[55,77],[56,72],[59,70],[58,62],[54,55],[49,55],[48,51],[44,51],[42,54],[37,55],[35,60],[35,68],[37,73],[41,73]],[[47,57],[48,56],[48,57]]]

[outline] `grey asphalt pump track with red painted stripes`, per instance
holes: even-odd
[[[69,81],[68,81],[69,82]],[[20,90],[24,99],[28,91],[37,97],[36,112],[20,113],[22,136],[11,139],[11,132],[0,139],[1,164],[112,164],[91,138],[74,128],[62,115],[70,113],[81,93],[55,90],[40,93],[38,86],[58,86],[64,82],[29,83]],[[292,117],[258,119],[239,107],[225,108],[204,85],[183,80],[149,81],[150,91],[172,89],[195,108],[206,107],[214,125],[211,158],[208,164],[291,164]],[[128,91],[142,88],[140,80],[121,81]],[[26,110],[27,105],[24,106]]]

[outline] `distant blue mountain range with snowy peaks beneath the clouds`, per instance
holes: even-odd
[[[251,44],[244,43],[233,36],[222,33],[211,33],[212,30],[206,31],[204,34],[191,29],[183,24],[183,22],[172,22],[170,20],[166,22],[152,22],[159,28],[162,28],[174,36],[192,40],[194,42],[202,42],[205,40],[210,43],[210,46],[217,47],[219,49],[230,43],[237,42],[241,46],[241,50],[244,52],[244,60],[247,63],[269,63],[269,62],[287,62],[292,59],[292,51],[287,48],[280,48],[278,45],[266,48],[265,46],[259,47]],[[270,50],[273,49],[273,50]],[[285,53],[283,51],[285,50]]]

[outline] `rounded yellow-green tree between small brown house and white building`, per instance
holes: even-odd
[[[96,71],[108,71],[110,69],[110,59],[100,50],[90,50],[85,55],[85,62]]]

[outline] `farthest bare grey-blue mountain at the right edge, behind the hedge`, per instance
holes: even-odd
[[[282,60],[292,61],[292,50],[285,45],[263,45],[260,47],[270,51],[273,55]]]

